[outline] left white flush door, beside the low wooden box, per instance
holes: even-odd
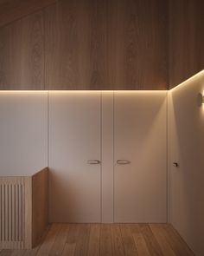
[[[49,220],[101,220],[101,95],[49,93]]]

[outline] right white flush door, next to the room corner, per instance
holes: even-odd
[[[114,94],[115,222],[166,221],[166,111],[165,92]]]

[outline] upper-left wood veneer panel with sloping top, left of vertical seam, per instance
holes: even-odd
[[[0,89],[44,89],[42,11],[0,28]]]

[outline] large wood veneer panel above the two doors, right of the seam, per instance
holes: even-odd
[[[166,89],[162,0],[61,0],[46,10],[48,89]]]

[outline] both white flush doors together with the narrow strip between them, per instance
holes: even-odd
[[[49,219],[167,220],[166,92],[49,92]]]

